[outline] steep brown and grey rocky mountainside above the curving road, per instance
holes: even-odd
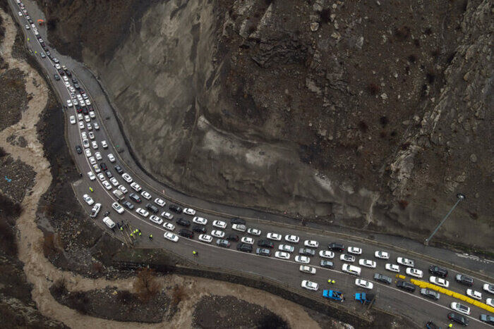
[[[489,1],[388,2],[42,1],[164,182],[492,248]]]

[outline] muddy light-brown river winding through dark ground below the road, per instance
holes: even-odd
[[[23,213],[17,221],[19,259],[24,263],[24,272],[28,282],[32,283],[32,299],[44,316],[55,318],[71,328],[121,328],[122,323],[101,318],[84,316],[73,309],[69,309],[55,301],[49,292],[49,287],[56,280],[64,278],[69,291],[87,291],[103,289],[104,287],[116,287],[119,290],[132,290],[133,278],[122,280],[88,279],[67,271],[60,271],[50,263],[42,252],[42,231],[35,223],[35,213],[38,201],[47,191],[52,175],[49,170],[49,162],[44,158],[43,148],[37,139],[36,123],[47,105],[48,88],[37,71],[28,63],[18,61],[12,57],[12,46],[16,38],[16,25],[9,15],[0,9],[0,15],[4,20],[5,37],[0,44],[1,54],[8,63],[9,69],[18,68],[26,77],[26,92],[32,96],[28,103],[28,109],[22,113],[19,123],[12,125],[0,132],[0,145],[14,159],[32,166],[36,172],[35,185],[30,193],[27,193],[22,205]],[[22,136],[28,142],[27,147],[17,147],[6,142],[6,138],[12,134]],[[268,294],[261,290],[234,285],[203,278],[192,278],[179,275],[167,275],[160,277],[163,285],[183,285],[186,288],[187,299],[179,304],[180,311],[167,323],[145,324],[125,323],[133,328],[190,328],[194,304],[205,294],[242,296],[246,302],[265,306],[275,314],[282,316],[291,328],[319,328],[319,325],[308,316],[298,304],[288,302],[285,299]]]

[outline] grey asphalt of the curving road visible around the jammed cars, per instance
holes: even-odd
[[[30,15],[32,20],[35,22],[38,18],[44,18],[42,12],[37,8],[32,1],[23,1],[26,9],[28,11],[27,15]],[[11,4],[11,8],[13,8],[14,16],[17,18],[20,26],[23,27],[22,30],[25,33],[26,40],[28,44],[28,48],[35,53],[35,57],[37,61],[40,63],[42,68],[44,69],[47,77],[52,82],[56,93],[59,94],[61,102],[63,104],[67,104],[66,100],[71,99],[71,94],[68,90],[68,87],[64,84],[64,80],[54,80],[54,75],[57,74],[56,68],[54,68],[54,63],[49,58],[41,58],[40,54],[44,51],[40,45],[40,42],[34,35],[32,28],[30,30],[25,29],[25,25],[28,24],[26,20],[26,14],[18,15],[20,9],[16,4],[15,0],[10,0],[9,4]],[[42,39],[44,39],[45,44],[48,45],[47,35],[46,35],[46,27],[40,27],[35,23],[38,31]],[[315,297],[319,297],[323,289],[335,289],[341,292],[344,292],[346,296],[346,301],[342,304],[349,309],[354,309],[356,311],[364,311],[366,308],[361,306],[358,302],[355,302],[353,294],[355,292],[362,292],[363,289],[360,287],[356,287],[355,279],[356,277],[353,275],[348,275],[346,273],[342,273],[342,264],[343,261],[339,260],[339,252],[335,252],[335,258],[329,259],[335,263],[334,268],[321,268],[319,266],[321,258],[318,256],[319,250],[327,249],[327,244],[330,242],[340,242],[344,244],[345,249],[349,246],[359,247],[363,249],[363,253],[361,255],[356,256],[356,262],[354,265],[359,266],[359,259],[371,259],[377,262],[376,268],[365,268],[363,266],[359,266],[362,269],[361,278],[369,280],[374,284],[372,292],[378,294],[378,297],[375,301],[375,306],[379,309],[384,309],[390,311],[392,313],[402,314],[406,317],[411,318],[415,323],[423,325],[426,321],[432,320],[439,325],[447,325],[447,314],[452,311],[450,309],[451,302],[459,302],[457,299],[452,299],[452,297],[448,297],[446,295],[441,294],[439,301],[433,301],[423,297],[418,293],[418,287],[414,294],[409,292],[404,292],[399,290],[394,282],[391,285],[385,285],[382,283],[375,282],[373,280],[374,273],[382,273],[388,275],[396,281],[394,275],[397,273],[392,273],[390,271],[385,270],[385,263],[396,263],[396,259],[398,256],[404,256],[409,259],[415,260],[415,268],[421,269],[423,271],[423,280],[428,280],[428,266],[430,265],[430,259],[423,259],[421,257],[417,257],[416,253],[427,255],[432,257],[433,259],[440,259],[441,261],[445,261],[446,263],[452,264],[448,268],[449,275],[448,280],[450,281],[450,290],[454,290],[455,292],[459,292],[464,294],[466,290],[466,286],[460,285],[454,281],[454,275],[459,273],[454,268],[456,266],[462,266],[463,268],[468,268],[471,272],[481,273],[482,278],[485,276],[490,277],[490,282],[492,280],[492,274],[494,272],[494,263],[492,261],[476,259],[475,257],[458,255],[453,252],[449,252],[447,250],[433,248],[433,247],[424,247],[421,244],[417,244],[416,242],[411,242],[406,239],[402,239],[399,237],[389,237],[386,235],[378,235],[375,237],[376,242],[386,243],[390,247],[382,247],[382,244],[373,244],[372,242],[368,242],[366,240],[363,242],[361,236],[352,232],[353,237],[343,237],[337,233],[348,233],[348,230],[344,230],[341,228],[335,228],[335,232],[321,232],[318,230],[313,230],[313,228],[318,228],[317,225],[308,224],[306,226],[301,226],[299,221],[293,221],[290,218],[284,218],[282,216],[272,215],[270,213],[261,213],[259,211],[255,211],[252,209],[241,209],[235,208],[232,206],[225,206],[221,204],[214,204],[208,201],[200,200],[195,197],[186,196],[181,192],[177,192],[172,190],[171,188],[163,185],[160,182],[157,182],[155,179],[150,177],[147,173],[145,173],[137,163],[135,163],[128,149],[126,149],[126,142],[123,138],[123,133],[119,128],[118,122],[114,117],[115,113],[112,110],[112,104],[109,104],[109,99],[105,96],[104,90],[102,89],[102,85],[97,81],[97,79],[92,75],[90,70],[86,68],[83,64],[74,61],[67,56],[61,56],[56,49],[52,49],[49,47],[49,51],[56,58],[59,58],[60,65],[66,65],[69,70],[71,70],[73,76],[78,80],[79,85],[86,91],[90,102],[95,108],[95,118],[90,119],[90,123],[94,126],[94,123],[98,123],[100,125],[99,130],[88,130],[86,123],[84,122],[84,128],[80,129],[78,122],[75,124],[71,124],[69,122],[70,116],[75,116],[77,120],[76,109],[72,107],[68,107],[65,110],[65,118],[66,118],[66,137],[68,139],[68,144],[70,145],[71,152],[73,154],[74,161],[76,162],[76,166],[81,173],[83,173],[83,178],[78,180],[78,182],[74,183],[73,188],[76,192],[76,197],[80,200],[80,204],[83,205],[84,209],[90,212],[92,206],[83,201],[83,194],[90,194],[90,197],[95,200],[95,203],[98,202],[102,204],[102,211],[95,218],[96,223],[102,228],[102,230],[107,230],[109,234],[114,235],[116,238],[122,241],[129,241],[128,236],[124,236],[118,229],[112,231],[109,230],[103,223],[103,213],[104,211],[110,211],[109,217],[112,218],[115,222],[122,222],[130,225],[132,228],[139,228],[143,233],[137,240],[134,241],[136,245],[139,247],[154,247],[154,248],[163,248],[167,249],[171,252],[179,254],[183,257],[191,259],[191,261],[195,263],[204,264],[207,266],[216,266],[218,268],[224,268],[226,270],[233,271],[241,271],[243,273],[258,275],[263,278],[268,278],[270,280],[275,280],[279,283],[287,285],[289,287],[295,287],[296,289],[301,288],[301,280],[311,280],[315,283],[319,284],[318,292],[308,292],[308,290],[303,290],[305,293],[313,294]],[[73,86],[73,82],[71,81],[71,77],[68,78],[68,82],[70,86]],[[76,93],[78,91],[76,90]],[[57,127],[60,131],[64,128]],[[212,227],[212,221],[222,220],[227,222],[227,228],[223,231],[228,235],[229,233],[235,233],[239,235],[239,237],[247,236],[245,233],[236,232],[231,230],[230,218],[234,216],[242,216],[243,218],[252,218],[251,220],[247,220],[248,228],[258,228],[262,231],[260,237],[254,237],[255,243],[253,245],[253,253],[248,254],[244,252],[239,252],[236,250],[236,243],[231,242],[231,247],[228,249],[217,247],[215,245],[216,238],[213,239],[212,244],[207,244],[204,242],[200,242],[198,240],[198,233],[195,233],[195,237],[193,240],[189,240],[185,237],[180,237],[179,242],[171,242],[169,240],[165,240],[163,237],[164,232],[167,232],[162,225],[156,225],[149,221],[148,218],[144,218],[143,216],[135,213],[135,209],[133,211],[128,211],[127,209],[124,213],[119,214],[116,213],[111,208],[111,204],[116,201],[112,191],[116,189],[115,186],[107,190],[102,185],[102,181],[99,178],[95,180],[89,180],[88,172],[95,171],[90,165],[89,157],[82,154],[77,154],[75,151],[76,145],[80,145],[83,147],[83,140],[81,137],[81,132],[93,132],[95,135],[95,139],[89,139],[89,142],[93,140],[97,142],[97,149],[93,147],[89,147],[91,155],[94,156],[95,152],[99,151],[102,155],[102,160],[97,161],[97,163],[104,162],[107,164],[110,171],[112,171],[114,178],[118,180],[119,185],[123,185],[126,187],[128,192],[126,193],[126,200],[129,200],[128,194],[135,192],[131,186],[126,183],[122,176],[116,173],[114,170],[114,166],[119,165],[123,168],[123,172],[128,173],[133,178],[134,182],[138,182],[138,184],[143,188],[143,190],[149,192],[152,195],[150,200],[146,200],[144,197],[140,196],[142,202],[140,204],[136,204],[131,201],[135,206],[135,209],[139,206],[141,208],[145,208],[145,204],[151,203],[154,204],[153,200],[157,197],[166,201],[166,205],[164,207],[157,206],[159,208],[159,213],[157,216],[160,216],[162,211],[168,211],[169,213],[174,214],[173,220],[169,221],[166,218],[163,218],[164,221],[173,223],[176,225],[174,233],[178,233],[178,230],[181,229],[181,226],[176,224],[176,218],[185,218],[189,221],[192,221],[193,216],[189,216],[186,214],[176,214],[173,211],[169,211],[168,206],[171,204],[176,204],[172,200],[179,200],[180,204],[184,204],[186,206],[191,206],[194,209],[202,209],[201,211],[197,211],[195,216],[200,216],[203,218],[207,218],[207,225],[205,228],[207,229],[207,233],[213,229],[222,230],[219,228]],[[102,147],[102,141],[106,141],[108,144],[108,148],[104,149]],[[108,154],[113,154],[116,158],[115,163],[111,163],[107,157]],[[107,182],[109,180],[106,178]],[[112,183],[110,183],[112,184]],[[90,187],[93,192],[90,192]],[[138,193],[140,194],[140,193]],[[231,214],[231,216],[222,216],[220,214]],[[160,216],[161,217],[161,216]],[[88,216],[88,221],[92,221],[92,219]],[[280,224],[281,223],[281,224]],[[285,224],[296,224],[297,226],[289,226]],[[194,225],[194,224],[192,224]],[[191,225],[191,227],[192,227]],[[265,239],[267,232],[276,232],[282,235],[282,242],[275,242],[275,248],[272,249],[272,255],[270,257],[258,256],[255,254],[255,248],[257,247],[256,242],[263,238]],[[153,239],[148,239],[148,236],[152,234]],[[291,244],[289,242],[284,242],[284,235],[286,234],[294,234],[300,237],[300,242],[298,244]],[[316,240],[319,242],[319,248],[315,249],[315,256],[311,257],[310,266],[316,268],[316,273],[314,275],[301,273],[299,271],[299,263],[294,261],[294,257],[298,254],[299,248],[303,247],[304,240]],[[277,250],[277,247],[280,243],[291,244],[295,247],[295,252],[291,254],[289,260],[276,259],[274,257],[274,253]],[[414,252],[411,256],[406,254],[406,252],[397,252],[392,246],[399,246],[404,249],[409,249],[410,252]],[[198,256],[193,256],[193,251],[198,252]],[[390,253],[389,260],[377,259],[374,256],[374,252],[376,250],[382,250]],[[399,274],[405,274],[405,267],[400,266]],[[328,285],[328,279],[335,280],[335,285]],[[482,292],[483,294],[483,302],[485,302],[486,298],[494,297],[493,294],[489,294],[488,292],[482,289],[483,283],[486,283],[485,280],[481,278],[475,278],[474,290]],[[409,277],[407,276],[408,280]],[[486,314],[485,310],[481,310],[473,305],[467,305],[471,307],[471,316],[470,318],[470,326],[471,328],[482,328],[483,326],[487,326],[484,323],[478,321],[478,316],[480,314]],[[492,315],[492,314],[491,314]]]

